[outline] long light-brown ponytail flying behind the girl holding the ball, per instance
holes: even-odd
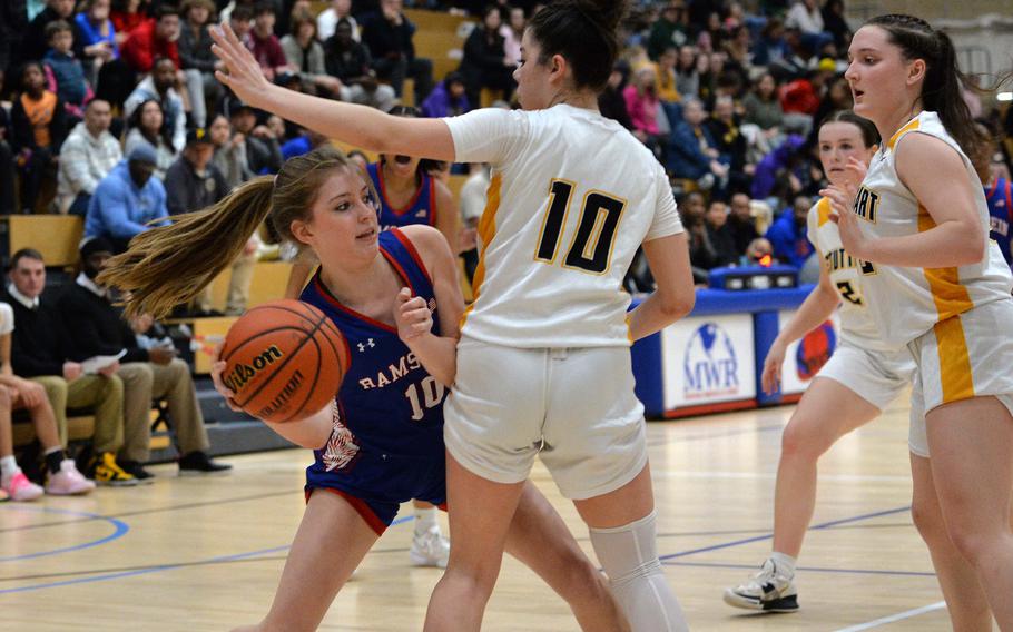
[[[126,293],[128,316],[163,316],[194,299],[230,266],[265,218],[283,239],[294,240],[292,221],[309,219],[321,185],[336,168],[358,174],[332,147],[292,158],[277,176],[255,178],[209,208],[134,237],[126,253],[106,264],[98,282]]]

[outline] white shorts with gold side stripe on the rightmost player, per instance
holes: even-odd
[[[1013,298],[936,323],[907,344],[918,365],[911,393],[908,444],[928,457],[925,415],[943,404],[993,395],[1013,414]]]

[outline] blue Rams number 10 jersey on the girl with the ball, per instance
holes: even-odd
[[[378,239],[383,257],[413,296],[429,304],[439,334],[436,297],[419,253],[396,228]],[[442,502],[444,386],[401,342],[395,327],[338,303],[319,270],[299,298],[331,318],[352,357],[335,398],[331,438],[314,451],[306,486],[334,487],[366,501]]]

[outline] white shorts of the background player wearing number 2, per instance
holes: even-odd
[[[839,382],[883,411],[911,386],[914,374],[915,363],[907,349],[873,352],[843,343],[817,377]]]

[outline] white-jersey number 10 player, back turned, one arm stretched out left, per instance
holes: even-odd
[[[445,405],[451,547],[425,630],[478,631],[534,457],[589,525],[635,631],[686,630],[658,559],[643,407],[629,346],[689,313],[692,277],[665,170],[598,111],[624,2],[559,0],[522,40],[524,111],[407,119],[268,82],[215,32],[218,78],[252,105],[384,154],[493,166],[475,302]],[[642,244],[657,292],[627,314]]]

